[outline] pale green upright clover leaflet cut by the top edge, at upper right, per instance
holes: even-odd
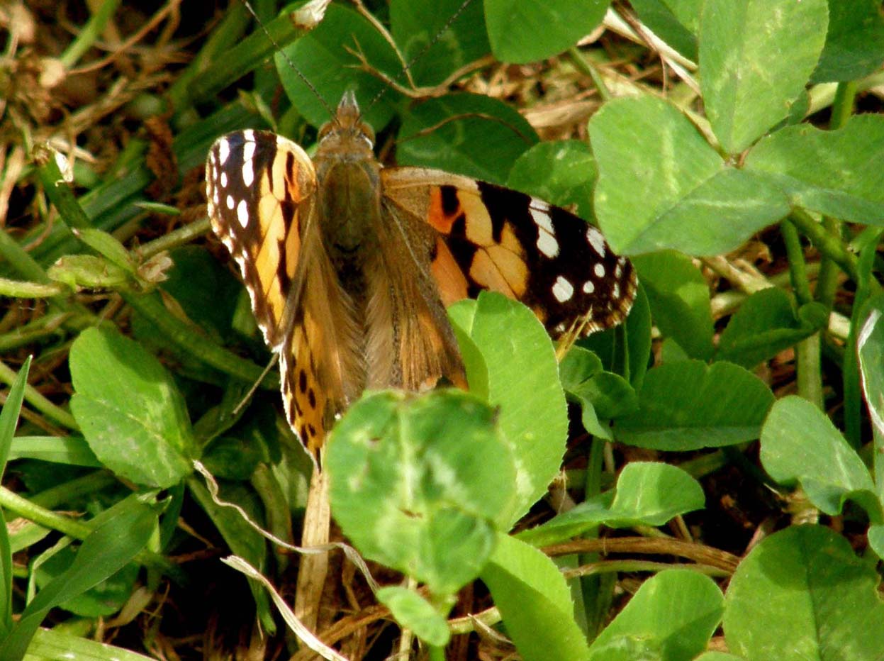
[[[736,154],[785,119],[826,41],[826,0],[707,0],[700,21],[706,116]]]

